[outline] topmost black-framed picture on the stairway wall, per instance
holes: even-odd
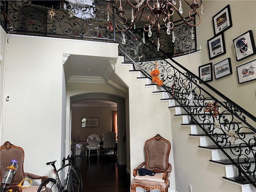
[[[228,28],[232,27],[232,19],[229,5],[224,7],[212,17],[212,24],[215,35],[219,34],[220,32],[224,32]]]

